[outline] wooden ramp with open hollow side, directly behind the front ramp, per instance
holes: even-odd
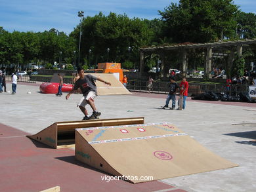
[[[64,147],[74,147],[75,128],[135,125],[138,123],[144,123],[144,117],[56,122],[53,123],[53,125],[50,125],[47,128],[41,130],[37,134],[28,136],[28,138],[49,145],[55,149],[60,149]]]

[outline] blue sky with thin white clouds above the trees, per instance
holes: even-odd
[[[0,0],[0,26],[9,32],[43,32],[55,28],[69,35],[80,22],[79,10],[85,12],[85,17],[101,11],[106,16],[115,12],[152,20],[160,18],[158,10],[163,11],[171,3],[179,0]],[[243,12],[256,14],[255,0],[235,0],[234,4]]]

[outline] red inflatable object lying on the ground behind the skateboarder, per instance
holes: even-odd
[[[59,83],[42,83],[40,85],[40,90],[43,93],[57,93],[58,92],[58,85]],[[72,84],[63,83],[61,88],[62,92],[70,92],[72,90]]]

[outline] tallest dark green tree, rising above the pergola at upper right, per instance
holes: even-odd
[[[238,7],[232,0],[181,0],[159,12],[166,37],[175,43],[205,43],[234,34]]]

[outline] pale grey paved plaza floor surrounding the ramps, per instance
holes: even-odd
[[[39,83],[18,83],[16,94],[5,92],[0,94],[2,125],[27,134],[36,134],[55,122],[80,121],[83,118],[81,111],[76,107],[81,98],[80,94],[72,94],[69,100],[66,100],[66,93],[62,97],[41,94],[39,85]],[[11,90],[9,83],[7,90]],[[98,96],[95,104],[98,111],[102,112],[100,119],[145,117],[145,123],[173,123],[207,149],[228,161],[239,164],[234,168],[161,180],[163,183],[175,186],[169,191],[256,191],[256,143],[250,142],[256,140],[256,104],[202,102],[188,98],[186,109],[177,111],[160,108],[165,104],[166,96],[133,92],[133,95]],[[88,109],[91,114],[91,108]],[[0,134],[0,142],[4,144],[5,133],[1,126]],[[55,150],[51,151],[54,153]],[[3,156],[0,156],[0,161],[1,158]],[[0,165],[3,166],[1,163]],[[62,189],[62,183],[56,185],[60,185]],[[3,191],[1,182],[0,191]],[[120,189],[120,191],[124,190]],[[156,190],[152,187],[152,191],[166,190]]]

